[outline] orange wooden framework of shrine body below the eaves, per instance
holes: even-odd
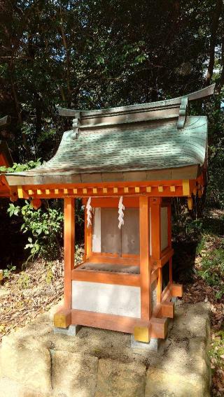
[[[86,203],[86,200],[83,201]],[[118,198],[92,198],[92,206],[115,208]],[[86,264],[120,264],[123,266],[139,266],[140,273],[115,273],[112,271],[86,270],[80,265],[73,267],[74,260],[74,198],[64,199],[64,309],[55,316],[55,324],[68,326],[80,324],[95,326],[114,331],[134,333],[134,329],[148,329],[149,337],[165,338],[167,334],[167,317],[174,317],[172,296],[181,296],[182,286],[172,284],[172,250],[171,241],[171,207],[169,201],[160,197],[150,198],[148,195],[127,197],[127,208],[139,205],[139,239],[140,254],[109,254],[92,252],[92,227],[87,228],[85,211],[85,255]],[[161,208],[167,207],[168,245],[161,250]],[[151,220],[150,220],[151,218]],[[151,229],[150,229],[151,225]],[[151,241],[151,254],[150,254]],[[169,261],[169,284],[162,291],[162,266]],[[71,308],[72,281],[96,282],[139,287],[141,290],[141,318],[109,315],[106,313],[89,312]],[[151,307],[151,285],[157,283],[157,305]],[[69,310],[69,311],[68,311]],[[69,314],[70,313],[70,314]],[[63,317],[64,315],[64,317]],[[141,334],[141,332],[140,332]]]

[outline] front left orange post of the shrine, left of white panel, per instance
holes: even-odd
[[[71,270],[74,268],[75,199],[64,198],[64,308],[71,309]]]

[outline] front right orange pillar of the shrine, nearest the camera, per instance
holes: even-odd
[[[150,263],[149,198],[139,197],[141,319],[151,319],[151,263]]]

